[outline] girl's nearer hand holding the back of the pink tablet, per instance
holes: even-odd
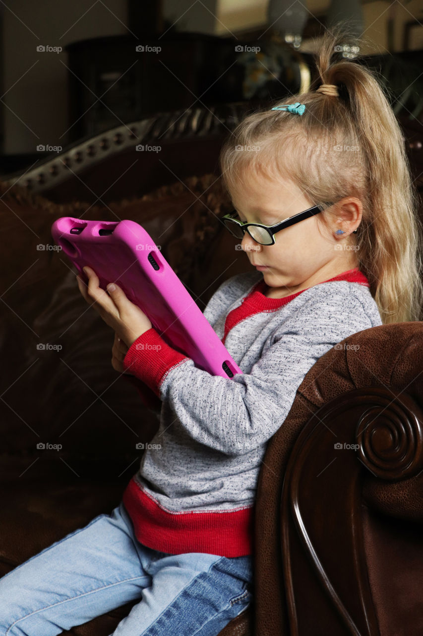
[[[129,348],[145,331],[152,328],[151,321],[144,312],[126,298],[123,289],[115,284],[114,291],[109,294],[99,286],[97,274],[91,267],[84,267],[88,276],[88,286],[76,277],[79,291],[89,305],[100,314],[105,324],[117,333]],[[109,286],[108,286],[109,287]]]

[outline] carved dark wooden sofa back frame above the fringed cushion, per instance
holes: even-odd
[[[192,153],[196,155],[196,174],[213,172],[217,178],[218,152],[225,137],[246,113],[264,105],[265,100],[260,99],[157,113],[82,139],[62,153],[44,158],[36,167],[17,170],[2,179],[55,203],[101,200],[107,204],[192,176]],[[397,117],[414,183],[421,191],[423,121],[408,113]]]

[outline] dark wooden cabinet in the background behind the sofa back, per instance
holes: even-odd
[[[242,99],[235,43],[170,31],[160,38],[128,34],[67,45],[69,140],[160,111]]]

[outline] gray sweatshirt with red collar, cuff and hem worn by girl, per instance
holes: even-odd
[[[123,494],[150,548],[250,554],[266,446],[305,374],[333,345],[382,324],[356,268],[285,298],[267,298],[265,289],[260,272],[232,276],[204,310],[242,374],[210,375],[153,328],[126,354],[124,368],[162,400],[158,431]]]

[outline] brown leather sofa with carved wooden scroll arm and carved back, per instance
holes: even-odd
[[[251,267],[219,220],[218,149],[241,110],[159,114],[0,181],[0,576],[111,512],[158,425],[51,224],[137,221],[204,309]],[[253,604],[222,636],[423,633],[422,324],[354,334],[305,376],[260,471]],[[63,633],[108,636],[132,606]]]

